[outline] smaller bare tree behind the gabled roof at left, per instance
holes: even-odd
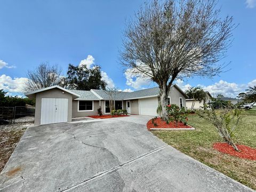
[[[26,82],[25,91],[35,91],[45,87],[60,84],[61,69],[57,66],[50,66],[49,63],[43,62],[34,70],[27,73],[28,81]]]

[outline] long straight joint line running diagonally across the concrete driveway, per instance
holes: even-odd
[[[62,192],[62,191],[68,191],[68,190],[74,189],[74,188],[76,188],[76,187],[78,187],[78,186],[83,185],[83,184],[84,184],[85,182],[87,182],[87,181],[90,181],[90,180],[93,180],[93,179],[95,179],[95,178],[101,177],[101,176],[106,175],[106,174],[108,174],[108,173],[112,173],[112,172],[116,171],[117,169],[121,168],[122,166],[124,166],[124,165],[126,165],[126,164],[132,163],[132,162],[134,162],[134,161],[137,161],[138,159],[141,159],[141,158],[146,157],[146,156],[148,156],[148,155],[154,154],[154,153],[158,152],[159,150],[162,150],[162,149],[165,148],[166,146],[168,146],[168,145],[164,145],[164,146],[162,146],[162,147],[159,147],[159,148],[157,148],[157,149],[154,149],[154,150],[150,151],[149,153],[143,154],[143,155],[141,155],[141,156],[139,156],[139,157],[136,157],[136,158],[134,158],[134,159],[131,159],[130,161],[127,161],[127,162],[125,162],[125,163],[123,163],[123,164],[121,164],[121,165],[115,166],[115,167],[113,167],[113,168],[111,168],[111,169],[109,169],[109,170],[106,170],[106,171],[104,171],[104,172],[101,172],[101,173],[99,173],[99,174],[96,174],[96,175],[94,175],[93,177],[91,177],[91,178],[89,178],[89,179],[86,179],[86,180],[84,180],[84,181],[81,181],[81,182],[79,182],[79,183],[77,183],[77,184],[75,184],[75,185],[73,185],[73,186],[70,186],[70,187],[68,187],[68,188],[66,188],[66,189],[60,190],[60,192]]]

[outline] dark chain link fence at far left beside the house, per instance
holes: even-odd
[[[34,117],[35,108],[27,106],[0,107],[0,124],[15,123],[21,117]]]

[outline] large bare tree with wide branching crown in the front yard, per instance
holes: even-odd
[[[121,63],[159,85],[165,118],[175,79],[213,77],[223,69],[216,63],[225,57],[235,26],[232,17],[219,17],[215,5],[215,0],[155,0],[126,26]]]

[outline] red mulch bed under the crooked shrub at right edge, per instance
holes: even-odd
[[[214,143],[213,148],[220,151],[221,153],[229,154],[239,158],[245,158],[250,160],[256,160],[256,149],[253,149],[244,145],[236,145],[240,150],[239,152],[233,149],[228,143]]]

